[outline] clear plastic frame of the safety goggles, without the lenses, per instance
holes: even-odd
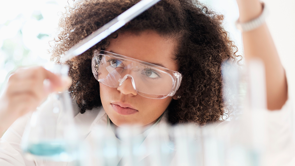
[[[156,98],[153,98],[153,99],[163,99],[163,98],[166,98],[168,96],[173,96],[173,95],[175,95],[176,91],[180,87],[182,75],[177,71],[173,71],[173,70],[164,68],[162,66],[158,66],[158,65],[155,65],[155,64],[152,64],[152,63],[148,63],[148,62],[145,62],[145,61],[137,60],[137,59],[134,59],[134,58],[131,58],[131,57],[127,57],[127,56],[124,56],[124,55],[120,55],[120,54],[116,54],[116,53],[108,52],[108,51],[104,51],[104,50],[94,50],[93,57],[92,57],[92,60],[91,60],[91,70],[92,70],[92,73],[93,73],[94,78],[96,80],[98,80],[98,73],[97,73],[97,68],[95,66],[96,66],[96,64],[99,64],[99,62],[100,62],[99,55],[115,57],[115,58],[119,58],[119,59],[122,59],[122,60],[127,60],[127,61],[131,61],[131,62],[139,63],[141,65],[145,65],[145,66],[148,66],[149,68],[159,70],[160,72],[168,74],[172,79],[172,88],[171,88],[170,93],[167,94],[167,95],[155,95],[155,96],[162,96],[162,97],[156,97]],[[137,94],[139,94],[140,96],[146,97],[146,98],[152,98],[152,97],[148,97],[148,96],[143,95],[143,94],[148,94],[148,93],[140,92],[140,91],[137,90],[137,88],[135,89],[134,78],[132,76],[131,76],[131,78],[133,79],[132,87],[137,92]],[[124,80],[126,80],[126,79],[124,79]],[[122,83],[120,83],[117,87],[119,87],[120,85],[122,85]],[[106,85],[106,86],[109,86],[109,85]],[[112,87],[112,86],[109,86],[109,87]],[[117,87],[112,87],[112,88],[117,88]],[[153,96],[153,94],[148,94],[148,95]]]

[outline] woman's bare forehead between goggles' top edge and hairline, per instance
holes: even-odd
[[[106,51],[177,71],[178,65],[174,60],[175,44],[176,42],[172,39],[162,37],[154,31],[144,31],[138,34],[125,32],[119,34],[116,39],[111,39]]]

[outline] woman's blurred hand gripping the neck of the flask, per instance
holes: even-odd
[[[47,86],[45,80],[49,82]],[[0,132],[20,116],[35,110],[49,93],[63,91],[70,85],[70,78],[62,78],[43,67],[17,69],[0,96]]]

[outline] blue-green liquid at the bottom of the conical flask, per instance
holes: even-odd
[[[66,153],[67,146],[64,142],[38,142],[29,144],[25,151],[36,156],[53,157]]]

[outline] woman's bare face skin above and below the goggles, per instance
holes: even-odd
[[[165,68],[177,71],[174,60],[175,42],[162,37],[154,31],[144,31],[139,34],[126,32],[119,34],[110,41],[106,51],[149,63],[160,64]],[[111,121],[117,125],[153,124],[163,114],[172,100],[145,98],[133,89],[131,78],[127,78],[118,88],[110,88],[99,83],[102,106]]]

